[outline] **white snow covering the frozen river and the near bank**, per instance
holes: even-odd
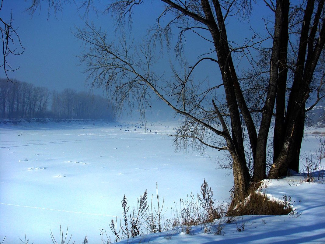
[[[200,192],[205,179],[219,201],[229,200],[230,171],[216,169],[220,152],[176,152],[173,138],[177,122],[134,123],[70,122],[19,125],[0,124],[0,243],[52,243],[50,230],[59,238],[69,235],[81,243],[100,243],[100,230],[122,215],[123,195],[133,206],[146,189],[164,196],[164,206],[175,207],[179,198]],[[157,133],[156,133],[157,132]],[[318,147],[307,134],[302,154]],[[244,216],[225,224],[223,236],[193,235],[177,231],[136,237],[134,243],[325,243],[325,185],[302,183],[302,176],[271,181],[267,194],[291,196],[299,217]],[[174,202],[175,201],[175,202]],[[104,234],[105,235],[105,234]],[[130,241],[125,241],[129,243]]]

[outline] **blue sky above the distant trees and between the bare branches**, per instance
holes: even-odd
[[[72,1],[72,3],[63,4],[62,13],[55,17],[53,11],[50,11],[50,15],[48,15],[47,1],[40,1],[41,9],[36,10],[31,16],[25,11],[30,7],[31,2],[31,0],[5,0],[0,12],[1,18],[9,20],[12,11],[13,25],[18,28],[17,33],[25,48],[22,55],[8,57],[7,61],[13,68],[19,67],[17,71],[9,73],[9,77],[59,92],[65,88],[89,91],[90,87],[86,84],[87,75],[83,73],[85,66],[79,65],[80,61],[76,57],[83,50],[82,43],[72,34],[76,26],[84,26],[80,17],[84,10],[81,9],[78,12],[76,6],[78,1],[75,1],[76,3]],[[95,3],[99,9],[103,9],[106,1],[99,3],[95,1]],[[262,4],[262,1],[259,3]],[[133,14],[131,36],[136,40],[146,37],[147,29],[150,25],[154,25],[156,18],[163,10],[162,7],[163,4],[160,1],[148,1],[137,6]],[[249,22],[243,23],[236,17],[231,17],[227,23],[228,39],[243,44],[243,37],[252,35],[250,26],[259,32],[263,32],[264,21],[261,18],[269,14],[270,10],[263,4],[255,6]],[[89,20],[107,30],[112,41],[119,34],[114,32],[114,20],[110,18],[110,15],[101,13],[96,15],[94,11],[90,10]],[[127,26],[125,30],[128,30]],[[185,48],[188,65],[194,65],[200,54],[211,51],[209,48],[212,48],[211,44],[202,42],[202,39],[197,36],[188,37]],[[170,74],[170,63],[175,62],[173,50],[170,54],[170,56],[164,54],[163,58],[159,59],[159,64],[156,67],[159,67],[160,73]],[[240,69],[245,65],[247,62],[241,61]],[[196,69],[193,75],[196,80],[204,79],[218,85],[222,83],[220,71],[213,62],[200,64],[199,69]],[[2,69],[0,70],[0,77],[5,77]],[[95,93],[103,94],[103,91],[97,89]],[[164,110],[171,112],[166,104],[156,102],[155,96],[152,99],[152,106],[152,109],[157,108],[155,111],[151,111],[153,116],[158,116],[157,114],[160,113],[160,116],[166,117]],[[170,112],[168,116],[172,114]]]

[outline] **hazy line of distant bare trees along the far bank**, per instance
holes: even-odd
[[[51,92],[26,82],[0,79],[1,118],[108,119],[114,113],[108,99],[66,88]]]

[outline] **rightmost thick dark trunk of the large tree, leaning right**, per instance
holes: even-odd
[[[296,69],[294,71],[294,79],[284,123],[285,137],[281,145],[282,148],[279,156],[275,157],[273,161],[268,178],[279,178],[286,175],[288,167],[292,167],[295,170],[298,170],[299,168],[299,154],[303,136],[305,102],[309,97],[310,82],[325,43],[324,25],[321,27],[319,38],[315,41],[319,16],[323,11],[324,6],[323,0],[319,1],[318,3],[318,17],[315,17],[314,23],[310,30],[314,4],[315,3],[313,0],[307,1],[306,4],[304,21],[300,34]],[[324,19],[322,21],[324,21]],[[289,160],[292,161],[289,162]]]

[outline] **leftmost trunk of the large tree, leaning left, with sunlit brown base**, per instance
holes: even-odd
[[[236,92],[234,84],[235,78],[232,74],[235,70],[233,65],[230,49],[227,41],[227,32],[224,26],[223,16],[218,1],[214,1],[214,9],[217,13],[217,23],[211,11],[208,0],[201,0],[202,9],[208,20],[208,28],[214,40],[214,47],[218,57],[219,68],[224,82],[226,100],[228,104],[230,121],[231,121],[231,137],[232,150],[230,154],[233,159],[233,175],[234,175],[234,199],[236,203],[243,200],[248,194],[250,175],[246,165],[245,150],[242,138],[242,129],[240,122],[239,107],[236,100]],[[238,94],[237,94],[238,95]]]

